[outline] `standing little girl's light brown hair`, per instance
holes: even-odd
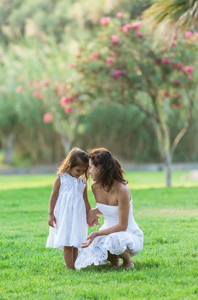
[[[88,173],[89,155],[85,151],[77,147],[73,147],[69,152],[69,154],[67,155],[67,157],[61,162],[56,175],[68,173],[72,167],[77,165],[83,165],[83,166],[87,165],[86,170],[82,176],[83,179],[87,181],[89,177],[89,173]]]

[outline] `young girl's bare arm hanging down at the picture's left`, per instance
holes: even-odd
[[[49,199],[49,217],[48,217],[48,224],[51,227],[54,227],[54,223],[56,224],[56,218],[54,215],[54,207],[58,198],[58,191],[60,188],[60,176],[58,175],[54,181],[51,196]]]

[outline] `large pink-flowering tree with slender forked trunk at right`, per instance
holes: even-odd
[[[170,186],[174,150],[197,99],[198,32],[173,33],[156,43],[143,22],[131,22],[121,12],[114,19],[103,17],[101,27],[81,47],[72,94],[80,103],[83,99],[84,107],[131,103],[144,111],[154,126]],[[170,130],[173,118],[180,124],[176,136]]]

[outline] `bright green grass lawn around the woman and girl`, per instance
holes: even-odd
[[[65,268],[61,250],[45,248],[54,175],[0,177],[0,299],[197,300],[198,187],[187,187],[197,182],[184,174],[175,172],[174,187],[160,188],[163,172],[127,172],[145,234],[135,269],[79,271]],[[93,207],[90,188],[89,199]]]

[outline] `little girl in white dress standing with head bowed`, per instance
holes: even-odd
[[[72,148],[57,171],[49,200],[46,247],[64,249],[65,264],[70,269],[74,269],[78,248],[87,237],[86,214],[91,208],[86,184],[88,164],[88,154]]]

